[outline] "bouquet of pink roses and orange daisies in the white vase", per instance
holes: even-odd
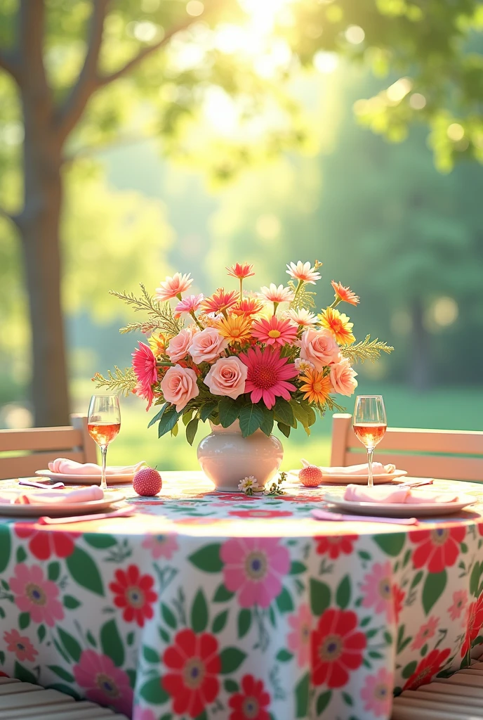
[[[226,456],[220,472],[229,472],[230,464],[236,482],[254,474],[263,484],[277,472],[282,459],[279,449],[265,480],[259,477],[259,464],[271,451],[262,437],[281,448],[272,436],[274,424],[286,437],[298,423],[310,435],[316,413],[344,410],[333,395],[354,392],[353,364],[392,351],[369,336],[355,342],[353,323],[337,309],[341,302],[358,304],[359,297],[348,287],[333,281],[334,302],[315,312],[311,287],[321,279],[321,263],[298,261],[287,268],[286,287],[270,284],[259,292],[244,289],[244,281],[254,275],[253,266],[239,263],[227,268],[239,287],[218,288],[210,297],[188,294],[193,279],[180,273],[167,277],[154,295],[143,285],[142,297],[112,292],[147,315],[147,320],[129,323],[121,333],[140,330],[149,340],[139,341],[131,368],[115,367],[108,377],[96,374],[97,387],[126,395],[134,392],[147,400],[147,410],[153,403],[160,405],[148,426],[158,423],[159,437],[168,432],[177,435],[179,420],[190,444],[200,421],[206,420],[214,433],[230,430],[241,439],[256,436],[258,445],[244,444],[238,460],[244,456],[253,464],[257,456],[257,472],[241,460],[235,470]],[[174,307],[170,301],[175,301]],[[232,441],[231,445],[234,452]],[[215,446],[211,454],[223,455]],[[201,464],[206,470],[202,460]],[[206,472],[210,477],[216,474],[212,468]]]

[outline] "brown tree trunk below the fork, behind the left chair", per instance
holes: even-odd
[[[68,425],[68,379],[60,303],[62,148],[52,130],[48,98],[38,90],[32,92],[32,88],[22,95],[24,210],[18,224],[29,289],[35,424]]]

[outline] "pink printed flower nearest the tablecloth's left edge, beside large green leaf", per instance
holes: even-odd
[[[15,595],[15,604],[22,613],[30,613],[35,623],[44,622],[49,627],[62,620],[64,611],[57,600],[59,588],[52,580],[45,580],[39,565],[28,567],[23,562],[15,567],[15,575],[9,579]]]

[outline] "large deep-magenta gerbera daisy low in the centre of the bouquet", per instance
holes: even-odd
[[[279,348],[265,348],[262,351],[258,346],[251,348],[247,354],[242,353],[239,359],[248,367],[245,392],[251,392],[252,402],[263,399],[267,408],[273,408],[277,395],[290,400],[290,391],[296,387],[286,382],[297,375],[293,363],[287,363],[288,358],[280,357]]]

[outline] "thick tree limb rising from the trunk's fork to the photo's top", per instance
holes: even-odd
[[[55,117],[57,132],[63,140],[77,125],[88,99],[98,88],[97,63],[108,4],[109,0],[93,0],[92,3],[86,59],[78,81],[70,89],[67,99],[65,99]]]

